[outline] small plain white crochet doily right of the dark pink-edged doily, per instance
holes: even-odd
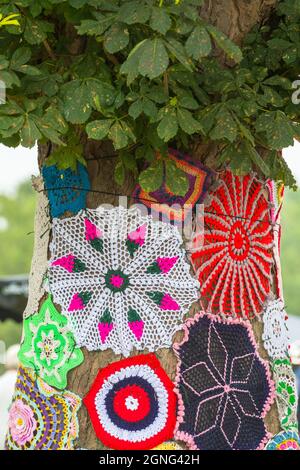
[[[286,320],[287,314],[282,300],[271,300],[266,304],[262,339],[272,358],[284,358],[288,354],[289,332]]]

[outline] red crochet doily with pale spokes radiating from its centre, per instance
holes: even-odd
[[[192,254],[213,313],[252,318],[271,292],[273,227],[265,187],[225,171],[205,206],[204,244]]]

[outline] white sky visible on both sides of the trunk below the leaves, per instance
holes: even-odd
[[[293,147],[285,149],[283,155],[300,185],[300,143],[295,142]],[[13,194],[19,183],[36,174],[36,147],[14,149],[0,145],[0,194]]]

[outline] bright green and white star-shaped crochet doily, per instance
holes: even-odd
[[[67,373],[83,362],[67,323],[49,296],[38,314],[24,320],[24,342],[18,354],[24,366],[58,389],[66,388]]]

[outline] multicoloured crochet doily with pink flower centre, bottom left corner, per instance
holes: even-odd
[[[71,450],[78,437],[80,398],[57,392],[20,367],[9,412],[7,450]]]

